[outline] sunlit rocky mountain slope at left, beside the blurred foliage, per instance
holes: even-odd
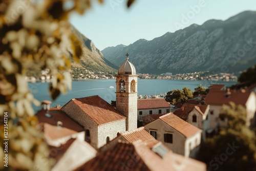
[[[91,71],[114,72],[118,69],[109,60],[105,59],[93,44],[92,40],[81,34],[75,27],[71,26],[71,31],[82,42],[83,56],[80,58],[80,63],[72,62],[74,68],[84,68]]]

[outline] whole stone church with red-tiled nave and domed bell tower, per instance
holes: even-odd
[[[71,99],[61,111],[84,127],[87,142],[100,148],[119,133],[137,128],[137,77],[127,57],[116,75],[116,109],[99,96],[91,96]]]

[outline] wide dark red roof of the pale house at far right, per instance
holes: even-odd
[[[224,90],[210,90],[205,98],[205,103],[207,104],[229,104],[230,101],[236,104],[245,105],[250,94],[252,92],[241,92],[236,90],[230,90],[230,95],[227,94],[227,91]]]

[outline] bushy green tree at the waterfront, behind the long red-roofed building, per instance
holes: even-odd
[[[165,100],[168,102],[186,102],[188,99],[193,98],[193,93],[190,89],[183,87],[182,90],[172,90],[167,92]]]

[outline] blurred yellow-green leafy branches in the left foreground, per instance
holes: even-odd
[[[127,6],[133,1],[127,0]],[[6,112],[10,139],[8,168],[2,163],[0,169],[50,170],[48,147],[37,130],[31,105],[39,102],[29,91],[25,77],[29,66],[39,71],[49,69],[53,100],[71,89],[71,60],[79,62],[82,50],[68,18],[71,12],[83,14],[90,7],[90,0],[0,1],[0,120]],[[6,138],[4,134],[0,137],[3,157]]]

